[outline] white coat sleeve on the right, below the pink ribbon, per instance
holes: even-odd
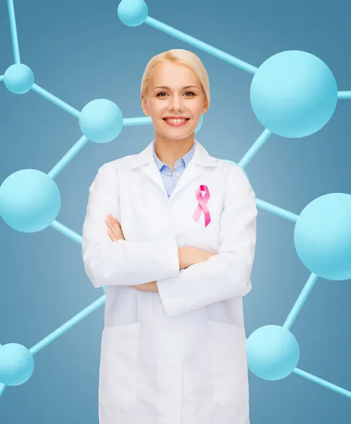
[[[241,167],[234,166],[226,179],[218,254],[156,281],[168,317],[251,290],[257,213],[255,193]]]

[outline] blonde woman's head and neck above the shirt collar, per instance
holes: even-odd
[[[155,151],[173,170],[190,150],[202,114],[209,109],[209,78],[196,54],[173,49],[154,56],[141,84],[142,109],[155,129]]]

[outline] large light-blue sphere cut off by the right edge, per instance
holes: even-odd
[[[327,280],[351,278],[351,195],[330,193],[300,213],[294,245],[309,271]]]

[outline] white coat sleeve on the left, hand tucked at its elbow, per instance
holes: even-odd
[[[84,269],[94,287],[137,285],[179,273],[178,245],[174,237],[164,240],[113,242],[105,218],[111,213],[120,221],[117,170],[105,163],[89,188],[83,225]],[[121,223],[122,230],[123,225]]]

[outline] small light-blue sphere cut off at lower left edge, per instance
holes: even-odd
[[[34,371],[32,353],[18,343],[0,346],[0,382],[19,386],[30,379]]]

